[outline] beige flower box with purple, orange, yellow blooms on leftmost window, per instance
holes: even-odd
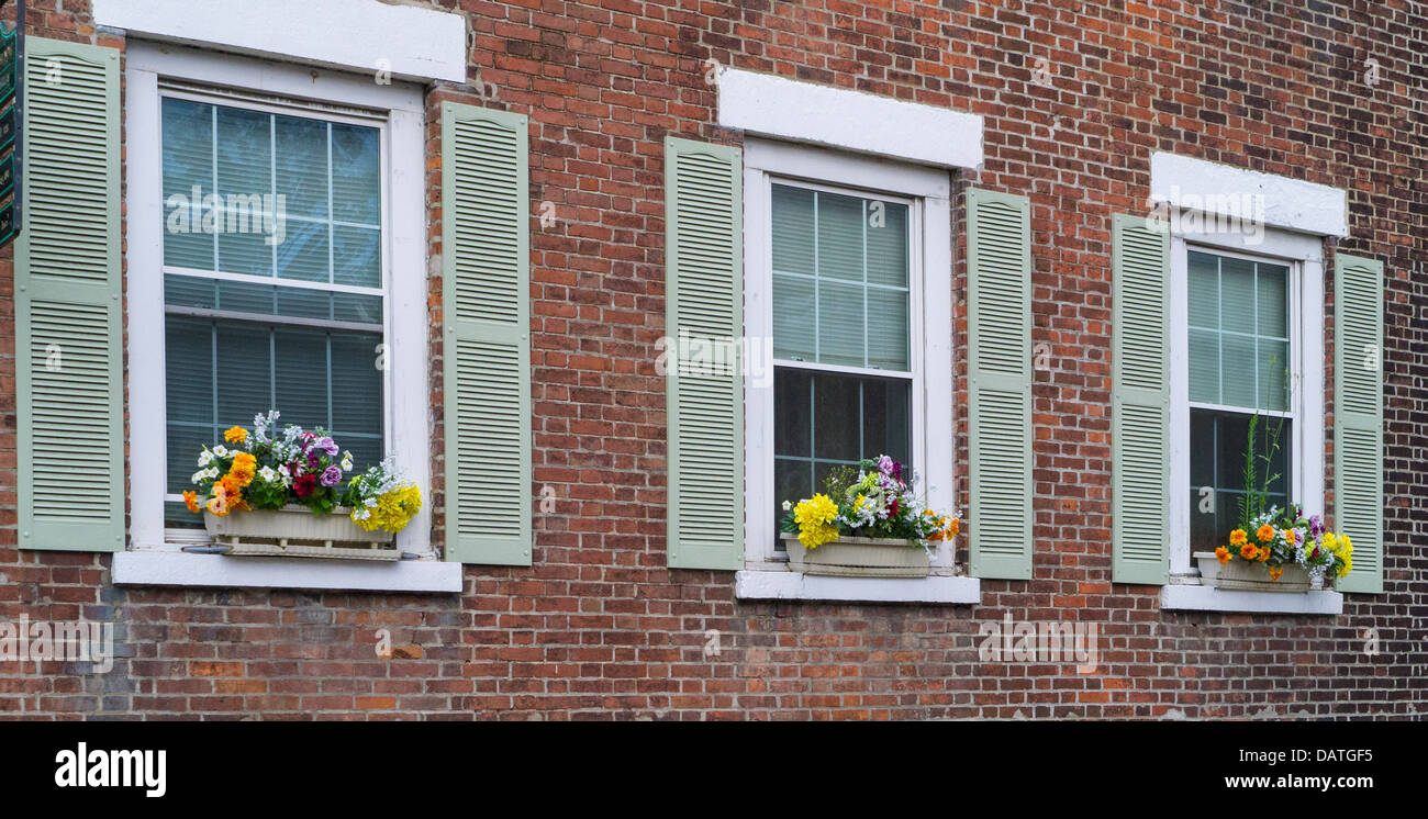
[[[277,418],[257,415],[251,432],[233,427],[198,454],[198,489],[183,497],[213,542],[230,555],[398,559],[394,535],[421,509],[421,489],[390,458],[354,474],[331,435],[277,432]]]

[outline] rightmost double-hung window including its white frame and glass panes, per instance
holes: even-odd
[[[1324,512],[1322,255],[1312,237],[1177,233],[1171,245],[1171,571],[1240,525],[1245,454],[1265,502]]]

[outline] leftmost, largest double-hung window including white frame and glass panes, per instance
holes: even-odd
[[[143,43],[126,88],[133,546],[203,542],[201,447],[270,410],[430,487],[421,90]]]

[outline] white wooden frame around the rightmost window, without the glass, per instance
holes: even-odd
[[[1287,412],[1261,414],[1292,418],[1289,497],[1311,515],[1325,511],[1324,241],[1317,235],[1274,228],[1264,228],[1262,234],[1187,231],[1187,221],[1172,220],[1170,290],[1174,305],[1170,334],[1170,571],[1182,582],[1198,576],[1190,551],[1190,411],[1192,407],[1210,407],[1190,401],[1191,250],[1288,265],[1289,408]]]

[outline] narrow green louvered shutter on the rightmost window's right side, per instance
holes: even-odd
[[[1384,263],[1334,257],[1334,525],[1354,542],[1347,592],[1384,591]]]

